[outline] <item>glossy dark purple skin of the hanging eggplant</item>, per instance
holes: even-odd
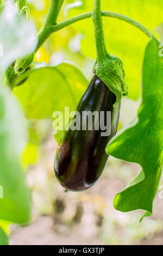
[[[111,134],[101,136],[101,129],[64,131],[55,155],[54,171],[60,184],[70,191],[84,191],[90,188],[102,174],[108,155],[105,147],[117,132],[120,104],[113,107],[116,96],[95,75],[89,84],[76,111],[110,111]]]

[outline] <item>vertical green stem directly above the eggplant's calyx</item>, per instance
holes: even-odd
[[[92,19],[95,27],[95,40],[96,40],[96,52],[97,62],[108,56],[108,52],[105,46],[104,29],[101,13],[101,0],[94,0]]]

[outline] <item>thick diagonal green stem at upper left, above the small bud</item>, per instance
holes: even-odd
[[[64,0],[51,0],[51,4],[45,22],[43,23],[42,28],[37,34],[38,44],[35,52],[39,50],[39,48],[43,45],[43,42],[45,42],[46,39],[53,33],[52,28],[54,25],[57,25],[57,18],[63,3]]]

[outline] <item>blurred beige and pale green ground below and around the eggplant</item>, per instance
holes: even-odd
[[[137,106],[138,102],[123,100],[123,124],[133,118]],[[48,125],[40,120],[33,125],[40,145],[30,144],[29,153],[24,154],[28,162],[28,154],[31,162],[35,162],[27,171],[33,218],[26,227],[11,225],[11,245],[163,245],[163,199],[159,194],[154,200],[153,216],[141,223],[142,211],[123,213],[113,207],[116,193],[140,172],[138,164],[110,156],[95,186],[82,193],[65,193],[54,176],[57,143],[51,122]]]

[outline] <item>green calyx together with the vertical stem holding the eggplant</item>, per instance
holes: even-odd
[[[128,94],[128,88],[124,82],[125,72],[120,58],[111,55],[106,50],[101,0],[94,0],[92,19],[95,27],[95,41],[97,60],[93,72],[108,86],[116,95],[114,107],[121,102],[122,96]]]

